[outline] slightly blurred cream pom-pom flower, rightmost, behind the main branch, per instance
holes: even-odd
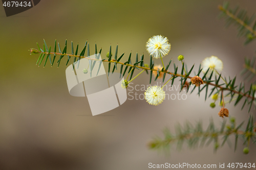
[[[214,70],[214,74],[216,74],[216,72],[220,73],[223,69],[223,62],[216,56],[206,57],[201,65],[203,67],[203,72],[206,72],[208,68],[210,68],[207,75],[210,75],[212,70]]]

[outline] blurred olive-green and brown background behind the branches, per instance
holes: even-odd
[[[157,107],[144,100],[127,100],[114,110],[92,116],[87,98],[68,92],[66,59],[58,69],[56,63],[52,68],[49,63],[45,68],[38,67],[38,55],[29,55],[28,51],[37,47],[36,42],[42,46],[43,39],[53,46],[56,38],[62,49],[66,38],[69,45],[72,40],[80,46],[88,39],[92,52],[95,42],[102,47],[102,58],[110,44],[115,49],[118,43],[119,55],[126,52],[127,58],[132,50],[133,61],[138,52],[149,62],[145,42],[161,34],[172,44],[164,62],[173,58],[178,63],[177,56],[182,54],[188,66],[195,63],[197,70],[205,57],[215,55],[224,63],[223,75],[238,75],[239,82],[244,57],[252,57],[255,42],[243,46],[235,27],[224,28],[224,20],[217,17],[221,4],[222,0],[51,0],[10,17],[0,7],[0,169],[126,170],[148,169],[150,162],[256,163],[255,145],[244,155],[242,141],[236,153],[227,144],[217,153],[212,144],[196,150],[184,145],[181,151],[174,146],[170,157],[147,148],[147,142],[155,135],[162,136],[164,128],[174,131],[177,123],[186,120],[202,120],[207,127],[212,117],[220,125],[220,107],[211,109],[210,99],[205,102],[204,97],[193,93],[184,101],[165,100]],[[235,5],[247,9],[250,15],[256,2],[231,1],[231,6]],[[146,85],[149,78],[144,73],[134,83]],[[238,123],[248,119],[247,108],[240,111],[241,104],[226,107]]]

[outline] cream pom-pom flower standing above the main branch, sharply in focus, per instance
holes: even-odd
[[[158,59],[169,53],[170,44],[167,37],[156,35],[147,40],[146,50],[150,55]]]

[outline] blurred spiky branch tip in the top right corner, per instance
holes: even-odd
[[[226,26],[237,25],[238,27],[238,36],[245,37],[245,44],[248,44],[253,39],[256,38],[256,15],[251,16],[247,15],[247,11],[239,9],[236,6],[233,9],[229,8],[229,3],[224,2],[223,6],[219,6],[219,9],[222,11],[220,17],[226,19]]]

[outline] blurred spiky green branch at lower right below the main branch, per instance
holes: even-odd
[[[238,139],[241,139],[248,148],[250,142],[256,144],[256,133],[253,132],[253,123],[253,117],[250,116],[244,129],[242,127],[244,122],[237,125],[236,119],[231,117],[229,125],[226,125],[225,119],[221,127],[216,128],[213,120],[210,119],[208,128],[204,130],[202,122],[197,123],[195,126],[186,122],[183,127],[181,125],[176,126],[175,133],[165,129],[163,131],[164,137],[155,137],[148,143],[148,147],[154,150],[169,151],[174,144],[177,145],[177,149],[181,150],[184,143],[187,143],[189,148],[204,147],[204,145],[208,146],[210,143],[214,143],[214,150],[217,151],[226,142],[231,145],[229,138],[234,135],[234,151],[236,151]]]

